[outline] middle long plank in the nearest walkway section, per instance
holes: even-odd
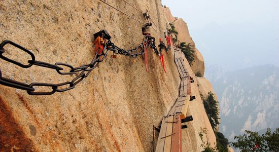
[[[173,116],[168,117],[168,122],[173,122]],[[173,126],[173,123],[167,123],[164,152],[166,152],[166,151],[169,152],[171,149],[172,126]]]

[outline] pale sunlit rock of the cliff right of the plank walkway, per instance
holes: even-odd
[[[187,139],[184,139],[184,151],[188,151],[189,149],[191,149],[192,151],[202,151],[200,147],[202,141],[200,140],[200,137],[198,135],[198,133],[201,131],[200,129],[205,128],[207,130],[207,135],[204,135],[203,141],[210,143],[212,146],[216,145],[216,137],[214,135],[211,124],[208,121],[206,112],[204,110],[203,101],[201,100],[199,93],[202,93],[203,96],[206,97],[208,92],[215,92],[211,83],[203,78],[205,70],[203,57],[196,48],[196,45],[192,37],[190,36],[187,23],[181,18],[175,19],[175,17],[171,15],[169,8],[164,7],[163,10],[166,14],[168,22],[172,23],[178,31],[179,42],[186,42],[186,44],[190,43],[194,46],[194,49],[196,51],[194,57],[195,61],[193,62],[192,66],[190,66],[187,60],[184,59],[185,65],[187,65],[187,69],[190,75],[194,77],[194,80],[196,82],[194,84],[191,84],[192,95],[196,96],[196,100],[190,103],[187,111],[187,115],[192,115],[193,119],[196,121],[190,122],[190,128],[187,130],[183,130],[183,133],[187,136]],[[195,77],[195,74],[197,72],[201,74],[201,77]],[[217,96],[216,99],[218,99]],[[191,140],[191,138],[194,138],[195,140]]]

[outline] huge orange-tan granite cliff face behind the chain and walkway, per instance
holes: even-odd
[[[142,13],[124,1],[108,3],[146,22]],[[129,3],[142,11],[149,9],[158,27],[154,28],[165,31],[167,21],[160,1]],[[63,62],[77,67],[90,63],[94,54],[91,35],[100,29],[108,30],[112,42],[123,49],[135,48],[143,39],[142,23],[96,0],[2,1],[0,17],[2,41],[11,40],[30,50],[36,60],[51,64]],[[158,40],[153,28],[148,31]],[[30,60],[11,45],[4,48],[9,58],[24,64]],[[0,85],[1,151],[151,151],[153,125],[160,124],[178,96],[180,78],[173,51],[165,54],[167,73],[151,49],[149,71],[142,57],[134,63],[126,56],[111,56],[110,52],[87,78],[66,92],[30,96],[26,91]],[[2,77],[26,84],[59,84],[75,78],[36,65],[21,68],[4,60],[0,63]],[[194,75],[190,66],[187,68]],[[49,91],[45,87],[36,90]],[[212,145],[216,140],[195,83],[192,92],[197,100],[190,104],[188,114],[194,121],[184,130],[183,148],[200,151],[200,128],[207,128]]]

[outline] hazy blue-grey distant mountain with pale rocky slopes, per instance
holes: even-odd
[[[217,69],[216,66],[209,69]],[[246,129],[279,126],[279,67],[260,65],[230,72],[210,71],[219,97],[220,131],[231,141]],[[221,75],[221,76],[220,76]]]

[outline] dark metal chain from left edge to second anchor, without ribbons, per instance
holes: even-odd
[[[104,30],[104,32],[107,32],[107,31]],[[108,33],[104,33],[104,32],[102,31],[102,34],[104,34],[105,36],[109,35]],[[107,37],[109,37],[109,36],[107,36]],[[5,53],[4,46],[7,44],[10,44],[10,45],[20,49],[21,51],[26,52],[28,55],[30,55],[31,60],[28,60],[28,64],[23,64],[18,61],[12,60],[8,57],[5,57],[3,55],[3,53]],[[0,58],[3,60],[6,60],[8,62],[11,62],[11,63],[16,64],[23,68],[29,68],[32,65],[37,65],[37,66],[42,66],[42,67],[46,67],[46,68],[50,68],[50,69],[55,69],[57,71],[57,73],[59,73],[61,75],[75,74],[77,76],[71,82],[64,82],[64,83],[60,83],[60,84],[31,83],[28,85],[25,83],[17,82],[17,81],[2,77],[2,71],[0,69],[0,84],[9,86],[9,87],[13,87],[13,88],[17,88],[17,89],[26,90],[29,95],[51,95],[51,94],[54,94],[55,92],[68,91],[68,90],[74,89],[77,84],[79,84],[84,78],[88,77],[89,73],[94,68],[97,67],[99,62],[102,62],[104,60],[104,58],[107,57],[107,54],[109,51],[113,51],[113,53],[115,53],[115,54],[121,54],[121,55],[136,58],[145,53],[144,46],[146,48],[151,47],[152,49],[154,49],[154,51],[157,55],[160,55],[157,50],[157,47],[155,46],[155,38],[152,37],[149,33],[145,35],[143,42],[141,44],[139,44],[134,49],[130,49],[130,50],[124,50],[124,49],[117,47],[116,45],[114,45],[114,43],[111,42],[110,37],[109,37],[108,41],[106,42],[106,45],[104,45],[102,53],[98,54],[98,51],[96,51],[95,56],[92,59],[92,61],[90,62],[90,64],[73,67],[72,65],[69,65],[67,63],[62,63],[62,62],[56,62],[55,64],[50,64],[47,62],[37,61],[34,54],[32,52],[30,52],[29,50],[23,48],[22,46],[20,46],[18,44],[15,44],[12,41],[5,40],[0,44]],[[70,70],[65,71],[63,67],[69,68]],[[49,88],[50,91],[49,92],[39,91],[39,89],[36,89],[36,86],[39,86],[41,88]]]

